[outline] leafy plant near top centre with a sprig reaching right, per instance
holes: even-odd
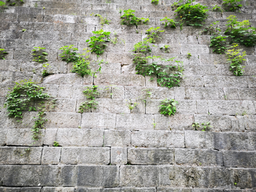
[[[131,9],[124,10],[124,14],[121,16],[121,25],[138,26],[146,24],[149,21],[149,18],[137,18],[134,13],[135,11]]]

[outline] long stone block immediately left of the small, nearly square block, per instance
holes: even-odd
[[[61,164],[107,165],[110,164],[109,147],[64,147],[61,152]]]

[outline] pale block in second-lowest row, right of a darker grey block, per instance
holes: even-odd
[[[120,186],[150,187],[158,186],[157,166],[121,166]]]

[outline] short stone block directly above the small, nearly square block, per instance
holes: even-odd
[[[131,132],[126,130],[105,130],[104,146],[131,146]]]

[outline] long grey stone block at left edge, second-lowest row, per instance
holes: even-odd
[[[0,172],[4,186],[58,186],[58,166],[0,166]]]

